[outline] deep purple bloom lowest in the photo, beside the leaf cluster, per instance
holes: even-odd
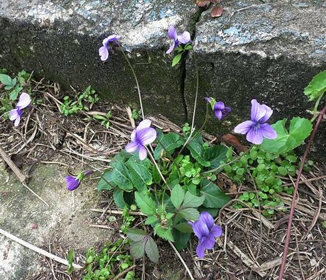
[[[188,222],[192,226],[194,234],[199,238],[197,256],[203,258],[205,250],[211,250],[215,245],[215,238],[221,236],[222,229],[214,224],[214,219],[208,212],[201,212],[196,222]]]

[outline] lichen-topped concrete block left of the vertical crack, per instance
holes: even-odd
[[[181,71],[165,54],[167,28],[191,30],[197,7],[188,0],[0,0],[0,64],[35,71],[69,87],[92,85],[116,103],[138,105],[135,82],[118,51],[101,62],[107,35],[131,52],[146,112],[185,120]]]

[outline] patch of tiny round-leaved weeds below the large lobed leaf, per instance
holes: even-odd
[[[313,162],[309,161],[308,165],[311,164]],[[242,208],[246,204],[257,209],[260,207],[264,216],[273,215],[275,209],[282,210],[284,205],[278,193],[286,192],[291,195],[293,187],[282,186],[280,177],[295,176],[297,169],[298,157],[293,151],[273,154],[262,147],[253,146],[248,154],[242,154],[239,161],[224,168],[228,177],[237,183],[251,182],[252,176],[257,187],[257,193],[245,191],[239,196],[239,200],[245,204],[237,203],[233,207]]]

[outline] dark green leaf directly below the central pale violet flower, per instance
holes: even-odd
[[[143,164],[138,164],[133,160],[133,158],[130,158],[126,162],[126,166],[132,175],[132,183],[138,191],[145,191],[147,185],[151,185],[153,183],[151,173],[145,166],[143,166]]]

